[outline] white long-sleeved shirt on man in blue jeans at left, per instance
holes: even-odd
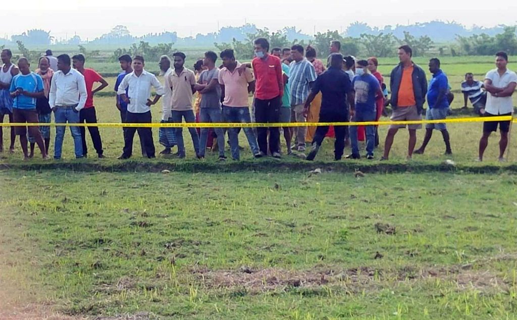
[[[86,83],[81,72],[70,68],[67,74],[58,70],[52,76],[49,93],[50,108],[77,104],[75,110],[79,111],[84,108],[87,97]]]

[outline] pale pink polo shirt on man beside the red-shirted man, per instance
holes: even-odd
[[[219,71],[219,84],[224,85],[224,106],[248,107],[248,83],[253,82],[253,73],[246,68],[242,74],[239,74],[237,68],[230,72],[227,68]]]

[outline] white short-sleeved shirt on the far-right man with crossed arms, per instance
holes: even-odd
[[[517,74],[506,69],[506,72],[503,73],[503,75],[499,75],[497,69],[494,69],[486,73],[485,80],[486,79],[492,80],[493,86],[504,88],[512,82],[517,83]],[[512,97],[494,97],[492,94],[487,93],[485,111],[495,115],[513,113]]]

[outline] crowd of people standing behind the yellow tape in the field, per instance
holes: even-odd
[[[123,70],[116,80],[116,108],[122,123],[147,124],[152,122],[151,106],[161,99],[162,123],[331,123],[347,121],[376,121],[386,114],[385,106],[391,105],[390,119],[393,121],[421,120],[424,104],[427,102],[425,119],[445,119],[449,113],[452,94],[447,75],[440,69],[440,60],[429,61],[432,79],[428,83],[425,71],[412,60],[412,49],[402,45],[398,49],[400,63],[390,73],[388,86],[377,71],[375,57],[356,59],[343,56],[339,41],[331,41],[330,55],[326,64],[316,58],[311,46],[299,44],[290,49],[269,48],[267,39],[254,41],[255,58],[251,63],[239,63],[232,49],[219,55],[207,51],[194,70],[184,66],[186,56],[175,52],[172,60],[162,56],[159,61],[160,75],[164,83],[145,70],[142,56],[119,57]],[[496,55],[496,68],[486,73],[484,81],[474,80],[472,73],[465,75],[461,84],[464,94],[464,108],[467,100],[476,113],[484,117],[511,115],[511,96],[517,85],[517,74],[507,68],[505,52]],[[39,58],[38,68],[31,71],[29,61],[21,57],[17,65],[9,49],[2,50],[0,70],[0,120],[8,115],[14,123],[50,123],[51,114],[58,124],[96,124],[97,114],[94,95],[109,84],[93,69],[85,68],[82,54],[70,58],[67,54],[57,57],[48,50]],[[218,66],[218,59],[222,64]],[[94,88],[95,83],[98,85]],[[151,94],[154,88],[155,94]],[[250,94],[253,95],[251,112]],[[102,139],[98,128],[88,126],[94,149],[99,158],[104,158]],[[399,129],[407,128],[409,141],[407,158],[423,154],[432,138],[433,130],[442,133],[445,154],[452,154],[450,134],[445,123],[426,124],[422,145],[415,150],[417,129],[420,124],[391,125],[380,160],[388,160],[394,137]],[[479,142],[478,160],[488,145],[491,132],[499,128],[499,160],[504,161],[508,144],[510,121],[485,121]],[[0,128],[1,129],[1,128]],[[64,126],[56,126],[54,159],[62,157],[65,135]],[[218,149],[219,160],[225,160],[226,134],[230,144],[231,157],[240,159],[241,147],[238,135],[241,128],[188,128],[195,156],[205,157],[207,147]],[[242,128],[255,158],[271,156],[281,158],[282,154],[301,153],[305,155],[306,144],[310,144],[307,160],[313,160],[326,137],[335,139],[334,159],[340,160],[347,143],[351,153],[346,158],[360,159],[358,141],[365,141],[366,157],[374,159],[375,147],[379,145],[375,126],[317,126],[317,127],[257,127]],[[86,130],[84,127],[70,127],[76,158],[88,156]],[[281,150],[281,131],[286,150]],[[124,127],[124,148],[118,159],[132,156],[134,134],[138,132],[142,156],[156,155],[153,132],[146,127]],[[20,137],[24,158],[34,156],[35,145],[44,159],[49,158],[50,127],[11,127],[9,151],[13,152],[15,137]],[[30,146],[29,146],[30,143]],[[177,147],[178,158],[186,157],[183,128],[162,127],[159,129],[159,143],[164,146],[160,154],[172,154]],[[30,147],[30,148],[29,148]],[[3,136],[0,131],[0,151],[3,151]]]

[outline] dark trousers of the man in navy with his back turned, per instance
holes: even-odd
[[[348,112],[320,112],[320,120],[318,122],[348,122]],[[312,143],[321,145],[327,132],[328,126],[317,127]],[[336,141],[334,142],[334,157],[340,159],[345,150],[345,136],[348,135],[348,127],[334,126],[334,133],[336,134]]]

